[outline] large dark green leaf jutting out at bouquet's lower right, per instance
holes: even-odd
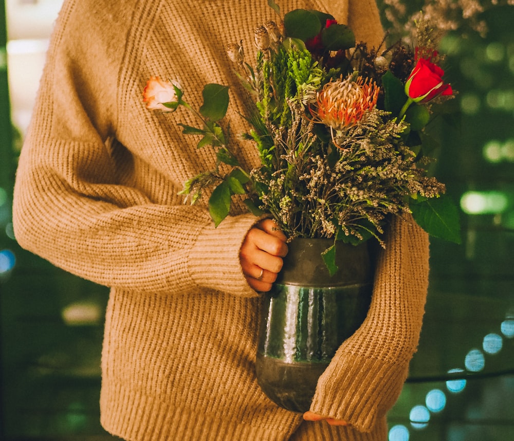
[[[409,203],[416,223],[428,234],[445,241],[461,243],[461,226],[457,207],[449,196],[425,200],[412,199]]]

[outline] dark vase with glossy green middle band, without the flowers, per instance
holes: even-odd
[[[331,276],[321,253],[331,239],[295,238],[276,283],[263,299],[256,375],[277,405],[305,412],[318,378],[368,314],[374,261],[367,244],[336,243]]]

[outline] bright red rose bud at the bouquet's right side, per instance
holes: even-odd
[[[452,95],[449,84],[443,81],[444,70],[420,58],[405,83],[405,93],[414,102],[426,103],[439,95]]]

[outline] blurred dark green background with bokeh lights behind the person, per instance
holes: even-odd
[[[112,439],[99,424],[107,289],[22,250],[12,186],[62,0],[0,10],[0,439]],[[493,5],[492,3],[495,3]],[[496,4],[498,3],[498,4]],[[431,241],[419,350],[389,441],[514,439],[514,6],[379,0],[391,33],[422,7],[449,29],[454,118],[433,127],[436,170],[462,217],[461,245]],[[510,2],[512,3],[512,2]],[[7,21],[4,21],[7,16]]]

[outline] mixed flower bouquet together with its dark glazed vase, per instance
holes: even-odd
[[[372,260],[367,247],[353,245],[376,238],[387,246],[387,223],[404,213],[431,235],[460,240],[456,208],[428,171],[434,159],[426,134],[454,92],[426,23],[417,24],[415,48],[368,48],[330,14],[297,9],[281,16],[268,3],[280,20],[255,29],[253,62],[241,43],[227,46],[248,91],[242,136],[255,145],[258,167],[241,166],[221,124],[228,86],[206,85],[198,110],[173,81],[152,78],[143,95],[150,109],[188,108],[201,125],[180,124],[183,133],[216,152],[212,169],[185,183],[186,199],[194,204],[212,190],[217,226],[232,198],[243,196],[251,212],[272,216],[289,237],[284,267],[263,298],[255,369],[269,398],[304,412],[317,379],[370,305]],[[302,248],[310,239],[316,244]]]

